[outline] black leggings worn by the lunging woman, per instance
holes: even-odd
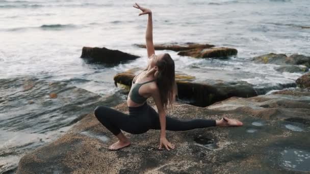
[[[161,129],[159,114],[146,102],[142,106],[128,107],[128,109],[129,115],[106,106],[97,106],[95,115],[99,122],[114,135],[118,135],[121,130],[132,134],[140,134],[149,129]],[[166,130],[186,131],[211,126],[216,126],[215,120],[194,119],[181,121],[166,117]]]

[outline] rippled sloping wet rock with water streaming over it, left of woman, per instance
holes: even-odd
[[[97,105],[120,101],[61,81],[0,79],[0,173],[15,173],[21,156],[58,138]]]

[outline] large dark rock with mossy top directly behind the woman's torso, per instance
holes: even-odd
[[[136,69],[137,71],[137,69]],[[131,86],[135,77],[134,71],[119,73],[114,76],[115,85],[117,83]],[[195,106],[208,106],[217,101],[229,97],[253,97],[256,92],[253,85],[245,81],[222,81],[222,80],[204,80],[195,81],[193,76],[176,74],[176,84],[178,88],[178,98],[190,100],[190,104]]]

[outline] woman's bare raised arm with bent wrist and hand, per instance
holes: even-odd
[[[142,13],[140,13],[139,16],[148,14],[145,42],[146,42],[147,57],[150,57],[152,54],[155,54],[155,49],[154,49],[154,44],[153,44],[152,12],[150,9],[143,8],[139,6],[137,3],[133,7],[140,9],[142,11]]]

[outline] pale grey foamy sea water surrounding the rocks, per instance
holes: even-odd
[[[144,43],[147,16],[138,16],[140,11],[132,7],[134,3],[0,0],[0,173],[14,172],[24,153],[66,132],[79,120],[72,121],[80,118],[85,107],[76,109],[70,105],[55,116],[62,106],[46,109],[53,107],[53,103],[45,103],[28,107],[21,101],[31,103],[32,97],[44,100],[49,82],[69,91],[73,87],[83,89],[85,96],[92,92],[106,99],[119,92],[113,81],[115,74],[146,66],[146,49],[134,44]],[[275,71],[277,65],[256,64],[252,57],[270,52],[310,55],[310,1],[307,0],[137,3],[152,10],[154,44],[195,42],[238,49],[237,56],[225,60],[194,59],[170,50],[156,51],[168,52],[178,73],[242,80],[257,88],[277,86],[294,83],[302,74]],[[83,46],[118,49],[141,57],[113,67],[90,64],[80,58]],[[25,79],[42,88],[36,88],[30,96],[20,95],[28,90],[19,91]],[[39,93],[42,93],[40,97],[35,95]],[[120,93],[119,97],[125,100],[125,95]],[[41,112],[44,109],[47,111]],[[92,109],[93,105],[83,111],[86,114]],[[70,119],[69,115],[75,116]],[[26,123],[31,124],[25,128]],[[53,127],[48,126],[51,124]]]

